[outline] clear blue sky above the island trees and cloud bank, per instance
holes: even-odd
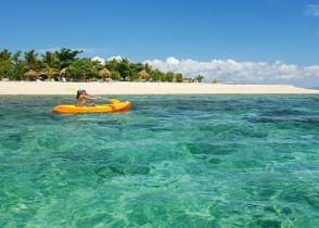
[[[303,69],[311,67],[307,85],[319,80],[315,71],[319,0],[0,0],[0,49],[12,52],[82,49],[84,56],[120,55],[132,62],[157,61],[158,67],[164,67],[158,61],[171,60],[175,66],[187,60],[193,64],[231,60],[240,66],[263,62],[269,67],[280,62],[295,66],[298,74],[309,74]],[[203,72],[213,77],[200,68],[193,73]]]

